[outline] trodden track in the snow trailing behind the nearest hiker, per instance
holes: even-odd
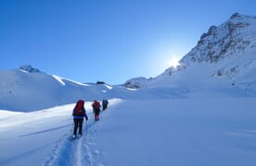
[[[102,123],[102,120],[87,124],[83,122],[83,136],[75,140],[72,140],[71,132],[70,135],[61,136],[57,146],[53,148],[52,154],[46,158],[43,165],[104,166],[102,163],[96,164],[96,160],[94,160],[94,156],[100,154],[101,151],[98,149],[93,151],[91,148],[96,146],[94,143],[96,130]]]

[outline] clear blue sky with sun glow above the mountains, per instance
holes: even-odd
[[[254,0],[3,0],[0,70],[32,65],[81,82],[156,77]]]

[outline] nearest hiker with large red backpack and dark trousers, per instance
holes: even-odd
[[[73,118],[74,118],[74,130],[73,130],[73,138],[76,137],[76,131],[79,128],[79,137],[82,136],[82,129],[83,129],[83,117],[85,117],[86,121],[88,121],[88,116],[84,109],[84,101],[79,100],[76,102],[76,105],[73,109]]]

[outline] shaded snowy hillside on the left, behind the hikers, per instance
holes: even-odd
[[[29,112],[72,103],[78,99],[102,100],[108,85],[88,85],[47,75],[38,69],[0,71],[0,109]]]

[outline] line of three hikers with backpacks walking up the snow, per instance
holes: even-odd
[[[108,100],[102,101],[103,110],[106,110],[108,108],[108,104],[109,104]],[[93,107],[93,112],[95,113],[95,121],[98,121],[100,108],[101,108],[99,101],[95,100],[92,103],[92,107]],[[83,136],[83,133],[82,133],[83,132],[83,118],[85,118],[86,121],[88,121],[88,116],[87,116],[86,110],[84,108],[83,100],[79,100],[76,102],[75,107],[72,112],[72,116],[73,116],[73,121],[74,121],[74,129],[73,129],[72,138],[75,139],[76,134],[77,134],[77,129],[79,130],[78,131],[79,137]]]

